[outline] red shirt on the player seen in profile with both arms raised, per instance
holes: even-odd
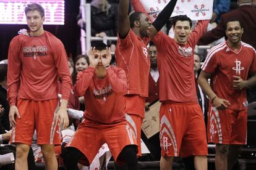
[[[118,37],[116,46],[117,67],[126,71],[126,113],[145,115],[145,97],[148,97],[148,75],[150,73],[150,58],[147,44],[149,38],[140,38],[129,30],[126,38]]]

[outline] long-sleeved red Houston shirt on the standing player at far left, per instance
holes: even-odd
[[[62,42],[48,31],[41,36],[15,36],[8,54],[8,100],[58,99],[58,81],[62,99],[69,99],[72,86],[67,54]]]

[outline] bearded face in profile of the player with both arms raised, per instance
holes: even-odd
[[[135,22],[137,22],[137,21],[135,21]],[[149,18],[147,17],[147,15],[140,14],[139,33],[142,38],[149,36],[150,26],[151,26],[151,22],[150,22]]]

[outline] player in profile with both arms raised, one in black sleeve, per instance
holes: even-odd
[[[131,127],[130,132],[137,139],[139,156],[141,156],[140,132],[145,116],[145,99],[148,97],[150,73],[147,44],[149,38],[153,38],[167,22],[176,2],[177,0],[169,2],[151,25],[147,15],[142,12],[134,12],[128,17],[129,0],[119,1],[116,63],[117,67],[126,71],[127,75],[126,119]]]

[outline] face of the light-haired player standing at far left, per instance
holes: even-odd
[[[26,18],[31,36],[39,36],[43,34],[43,23],[45,22],[45,17],[41,17],[41,14],[38,12],[38,10],[28,11]]]

